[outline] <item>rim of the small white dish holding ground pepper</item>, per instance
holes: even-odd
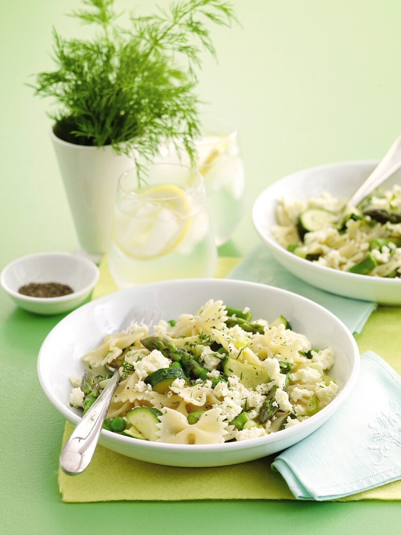
[[[62,295],[60,297],[32,297],[29,295],[23,295],[18,292],[15,292],[10,286],[6,284],[5,277],[6,272],[11,269],[15,264],[18,264],[22,260],[25,260],[27,258],[36,258],[38,256],[68,256],[68,257],[74,257],[78,259],[78,262],[81,262],[82,264],[85,264],[92,272],[93,272],[93,279],[92,281],[84,286],[82,289],[73,292],[72,294]],[[74,255],[72,253],[62,253],[61,251],[55,251],[52,253],[34,253],[32,255],[26,255],[26,256],[20,256],[19,258],[16,258],[9,264],[7,264],[2,272],[0,273],[0,284],[3,286],[5,291],[9,293],[10,295],[14,297],[18,297],[21,301],[30,301],[32,303],[62,303],[64,301],[69,301],[71,299],[75,299],[76,297],[80,297],[81,295],[84,295],[85,293],[89,292],[93,286],[97,283],[99,279],[99,268],[95,263],[93,263],[88,258],[84,258],[83,256]]]

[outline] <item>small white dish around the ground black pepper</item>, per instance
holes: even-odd
[[[0,283],[21,308],[35,314],[61,314],[73,310],[91,293],[99,278],[93,262],[69,253],[38,253],[22,256],[7,264],[0,274]],[[30,282],[60,282],[74,292],[61,297],[30,297],[18,289]]]

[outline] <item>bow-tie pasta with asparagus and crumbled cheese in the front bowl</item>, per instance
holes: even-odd
[[[86,412],[107,385],[120,383],[105,429],[171,444],[223,444],[264,437],[302,423],[339,391],[328,376],[331,348],[312,348],[282,316],[253,320],[248,308],[209,300],[194,315],[109,334],[70,377],[70,405]]]

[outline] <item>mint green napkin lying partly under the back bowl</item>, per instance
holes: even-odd
[[[353,334],[360,333],[377,307],[376,303],[329,294],[303,282],[276,262],[269,249],[263,244],[256,246],[243,258],[227,275],[227,278],[262,282],[308,297],[333,312]]]

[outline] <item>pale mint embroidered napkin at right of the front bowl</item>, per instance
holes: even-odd
[[[401,378],[372,351],[326,424],[272,463],[298,500],[335,500],[401,479]]]

